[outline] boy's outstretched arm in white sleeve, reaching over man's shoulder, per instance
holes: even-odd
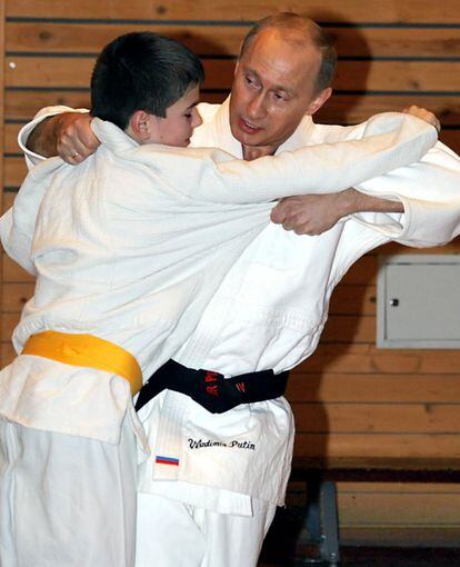
[[[94,128],[96,125],[96,128]],[[93,128],[101,141],[103,132]],[[401,113],[379,115],[360,139],[309,146],[250,162],[220,150],[142,146],[132,159],[156,169],[196,200],[221,203],[267,202],[289,195],[334,192],[419,160],[434,143],[432,126]],[[181,162],[173,159],[181,157]]]

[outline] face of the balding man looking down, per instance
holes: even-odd
[[[237,64],[230,98],[231,131],[243,147],[274,151],[326,102],[330,89],[314,92],[320,57],[314,46],[287,42],[273,29],[256,36]]]

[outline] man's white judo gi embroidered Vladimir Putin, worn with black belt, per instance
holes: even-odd
[[[241,158],[228,101],[199,110],[203,125],[192,145]],[[354,133],[354,127],[320,126],[308,117],[278,151]],[[230,270],[174,360],[228,376],[292,368],[317,348],[331,292],[363,253],[390,239],[426,247],[459,233],[460,161],[442,143],[421,162],[359,189],[401,200],[406,213],[357,215],[314,237],[269,225]],[[137,566],[256,566],[290,472],[294,428],[287,400],[211,415],[166,391],[139,415],[152,455],[140,468]]]

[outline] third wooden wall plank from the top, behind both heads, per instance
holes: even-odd
[[[232,60],[203,61],[204,88],[229,89]],[[7,57],[7,87],[88,87],[92,57]],[[339,90],[460,91],[459,61],[340,61],[333,87]]]

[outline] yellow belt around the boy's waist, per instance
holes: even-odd
[[[129,381],[133,396],[142,387],[142,372],[136,358],[118,345],[92,335],[38,332],[29,338],[21,354],[117,374]]]

